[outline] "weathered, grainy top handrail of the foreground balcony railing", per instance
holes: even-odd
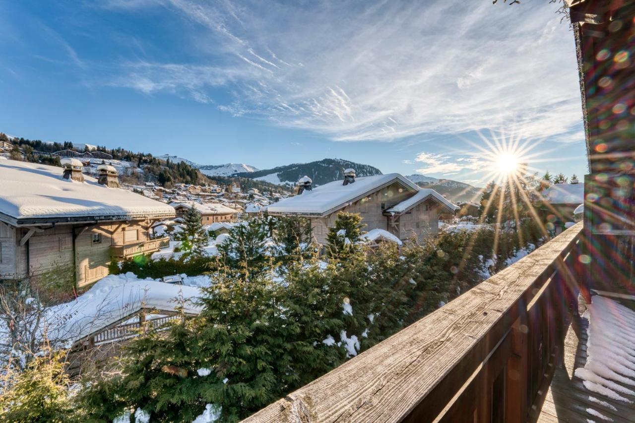
[[[575,248],[577,224],[516,264],[246,422],[432,421]],[[425,409],[426,414],[415,412]],[[414,420],[412,420],[414,421]]]

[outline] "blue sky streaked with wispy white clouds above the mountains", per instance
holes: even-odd
[[[469,4],[469,6],[467,6]],[[0,131],[258,168],[343,158],[482,185],[492,145],[586,173],[548,1],[0,0]]]

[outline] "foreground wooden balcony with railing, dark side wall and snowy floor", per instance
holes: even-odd
[[[635,1],[566,3],[584,221],[246,422],[635,421]]]

